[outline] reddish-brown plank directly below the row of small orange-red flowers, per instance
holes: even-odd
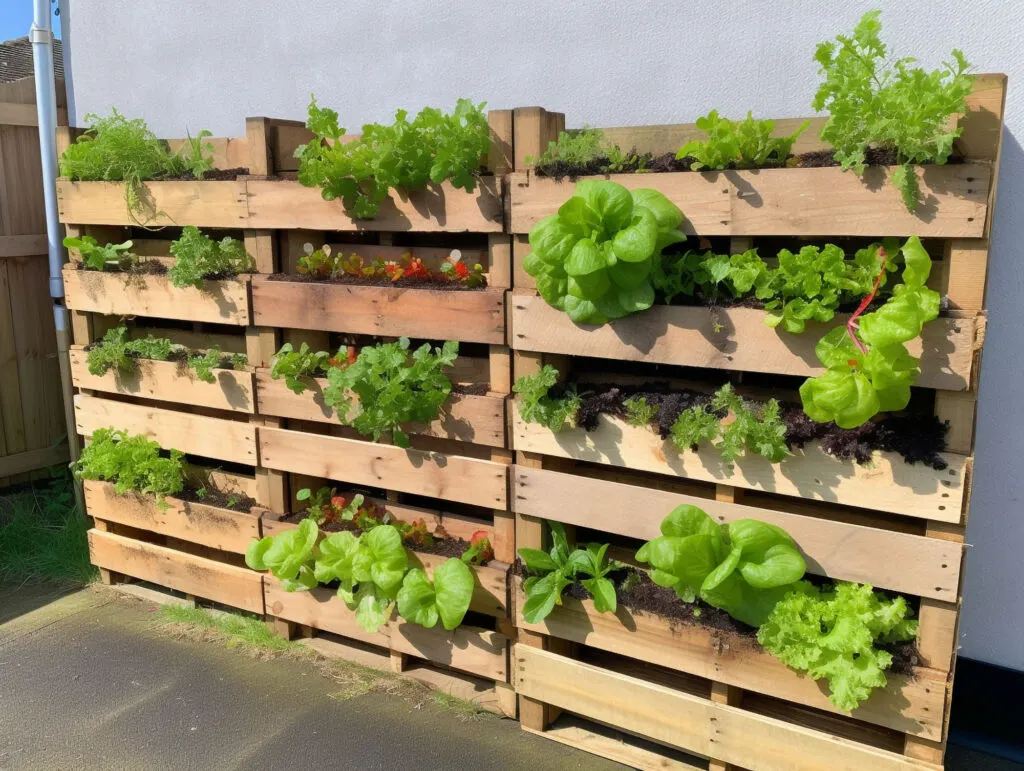
[[[253,279],[253,318],[263,327],[505,342],[505,292],[359,287]]]

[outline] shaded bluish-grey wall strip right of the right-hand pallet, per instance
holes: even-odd
[[[1024,636],[1019,604],[1020,555],[1024,553],[1021,516],[1021,459],[1024,458],[1024,148],[1007,129],[1002,136],[998,191],[989,259],[986,305],[988,327],[982,356],[975,445],[974,490],[967,540],[969,551],[961,625],[963,652],[1004,667],[1024,670],[1024,647],[1007,659],[1007,614],[1016,615]],[[1000,655],[1000,651],[1002,655]]]

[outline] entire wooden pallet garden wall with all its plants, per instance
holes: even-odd
[[[854,135],[851,45],[808,121],[69,135],[104,581],[640,768],[941,768],[1006,78]],[[90,176],[126,127],[150,166]]]

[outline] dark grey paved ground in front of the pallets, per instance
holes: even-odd
[[[622,769],[430,701],[332,697],[308,661],[154,632],[105,591],[0,588],[0,770]],[[1020,768],[950,746],[949,771]]]

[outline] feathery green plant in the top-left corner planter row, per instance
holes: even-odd
[[[156,214],[143,184],[145,180],[186,172],[199,178],[213,168],[212,159],[204,155],[213,153],[213,145],[203,142],[210,136],[209,131],[200,131],[178,153],[171,153],[167,142],[158,139],[140,118],[129,120],[114,110],[105,118],[89,114],[85,120],[91,124],[89,128],[60,156],[61,176],[81,181],[125,182],[128,210],[143,224]]]

